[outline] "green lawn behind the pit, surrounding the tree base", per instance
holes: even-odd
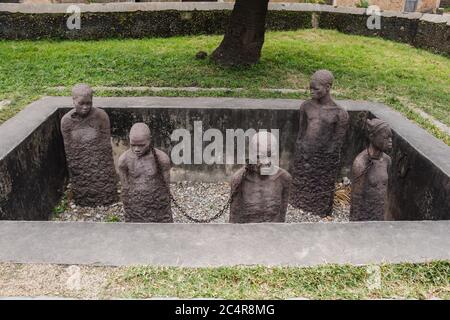
[[[450,59],[378,38],[327,30],[269,32],[261,62],[224,69],[199,50],[212,52],[222,36],[101,41],[0,41],[0,123],[43,95],[68,95],[78,82],[92,86],[244,88],[241,92],[100,91],[97,95],[240,96],[305,98],[263,88],[306,89],[321,68],[336,77],[339,99],[380,101],[450,145],[450,137],[422,118],[420,109],[450,126]]]

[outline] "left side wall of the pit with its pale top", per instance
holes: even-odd
[[[67,180],[56,108],[31,104],[0,126],[0,220],[48,220]]]

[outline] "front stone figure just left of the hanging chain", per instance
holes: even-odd
[[[170,158],[152,146],[145,123],[130,130],[130,149],[119,158],[119,176],[126,222],[173,222]]]

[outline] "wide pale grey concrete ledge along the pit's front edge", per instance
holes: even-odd
[[[450,221],[184,225],[0,222],[0,262],[217,267],[450,259]]]

